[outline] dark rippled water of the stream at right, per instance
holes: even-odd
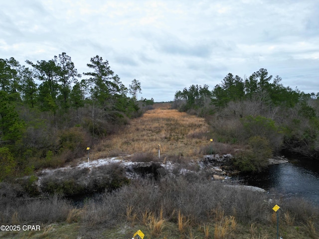
[[[244,175],[247,185],[276,191],[287,197],[303,197],[319,205],[319,161],[290,160],[270,165],[265,172]]]

